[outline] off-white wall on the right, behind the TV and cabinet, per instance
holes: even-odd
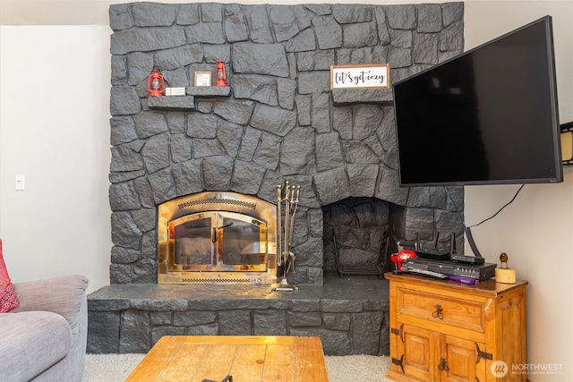
[[[544,15],[552,16],[560,122],[573,121],[573,2],[466,1],[466,49]],[[527,280],[527,358],[539,367],[561,364],[560,374],[533,374],[535,382],[573,380],[573,167],[565,182],[526,185],[515,202],[492,220],[472,228],[488,261]],[[507,203],[518,186],[466,187],[466,223],[481,222]],[[469,249],[466,249],[469,250]]]

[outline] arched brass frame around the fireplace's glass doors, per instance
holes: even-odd
[[[212,254],[220,263],[224,240],[222,217],[257,225],[260,266],[201,267],[175,264],[173,228],[194,219],[210,218],[215,228]],[[171,233],[170,233],[171,232]],[[266,240],[265,240],[266,239]],[[158,206],[158,284],[274,284],[277,282],[277,207],[235,192],[201,192],[168,200]]]

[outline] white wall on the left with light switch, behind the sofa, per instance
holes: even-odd
[[[110,32],[0,26],[0,238],[14,282],[109,284]]]

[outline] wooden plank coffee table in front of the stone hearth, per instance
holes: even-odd
[[[167,335],[126,382],[328,382],[320,337]]]

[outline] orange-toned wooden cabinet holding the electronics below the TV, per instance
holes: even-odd
[[[459,284],[387,273],[390,370],[397,381],[522,381],[526,281]]]

